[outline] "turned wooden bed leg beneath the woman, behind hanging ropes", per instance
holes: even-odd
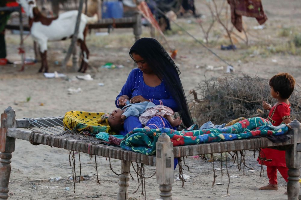
[[[119,175],[119,191],[117,193],[117,200],[125,200],[129,198],[129,161],[121,160],[121,173]]]

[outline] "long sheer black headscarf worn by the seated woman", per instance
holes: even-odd
[[[184,125],[191,126],[193,122],[179,77],[181,72],[162,45],[153,38],[141,38],[130,49],[129,54],[133,59],[132,53],[141,56],[154,73],[164,80],[170,94],[179,106],[179,114]]]

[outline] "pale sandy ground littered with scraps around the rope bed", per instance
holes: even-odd
[[[228,42],[223,38],[223,30],[220,26],[214,26],[216,34],[210,38],[218,41],[212,45],[212,49],[223,59],[232,63],[235,67],[235,73],[245,73],[250,75],[260,75],[269,78],[277,72],[285,71],[295,76],[298,84],[301,83],[300,61],[301,57],[291,53],[268,52],[266,49],[271,45],[279,46],[287,43],[293,36],[289,33],[286,37],[279,36],[283,29],[289,29],[293,33],[300,32],[299,22],[301,19],[301,3],[299,0],[284,2],[273,1],[273,4],[264,0],[265,13],[268,21],[265,23],[265,29],[254,30],[257,22],[253,18],[244,17],[245,26],[247,26],[250,46],[246,47],[243,43],[236,44],[238,50],[222,51],[219,50],[219,44]],[[203,10],[200,2],[197,8],[209,18],[209,12]],[[189,29],[198,39],[203,40],[201,30],[195,23],[189,24],[190,19],[180,19],[178,22]],[[206,18],[203,18],[206,21]],[[229,25],[230,26],[230,25]],[[196,44],[180,30],[175,34],[167,35],[168,40],[178,48],[178,58],[176,64],[182,71],[181,80],[185,91],[188,91],[203,80],[205,77],[222,76],[225,72],[225,64],[216,59],[207,50]],[[101,30],[105,32],[105,29]],[[219,35],[219,36],[215,36]],[[143,36],[149,37],[149,29],[143,29]],[[217,39],[219,38],[219,39]],[[12,61],[20,60],[17,54],[19,42],[18,35],[6,34],[8,59]],[[70,110],[81,110],[91,112],[110,112],[115,109],[114,99],[125,83],[127,75],[134,68],[128,55],[129,48],[134,39],[131,29],[116,29],[109,36],[95,36],[94,32],[88,36],[87,44],[91,52],[90,65],[86,74],[91,74],[94,80],[77,80],[76,75],[72,73],[69,67],[63,72],[60,65],[55,65],[55,61],[63,60],[65,51],[69,42],[49,43],[48,62],[50,72],[58,71],[67,75],[67,79],[47,79],[43,74],[37,73],[40,63],[36,65],[27,65],[24,72],[19,72],[20,65],[0,66],[0,110],[12,106],[16,110],[17,118],[23,117],[44,117],[44,116],[62,116]],[[33,56],[32,40],[28,38],[25,41],[26,56]],[[254,55],[254,56],[253,56]],[[106,62],[124,65],[121,69],[99,68]],[[199,67],[196,67],[198,65]],[[214,67],[224,66],[224,70],[209,71],[207,65]],[[104,86],[98,86],[98,83],[104,83]],[[247,87],[247,86],[244,86]],[[82,92],[68,94],[69,88],[81,88]],[[29,99],[26,101],[26,99]],[[42,104],[42,105],[41,105]],[[28,141],[16,140],[16,148],[11,159],[12,171],[9,184],[10,199],[116,199],[118,189],[118,177],[110,171],[109,161],[102,157],[97,157],[98,174],[101,185],[96,183],[95,161],[90,160],[88,155],[81,154],[82,175],[87,179],[82,180],[81,184],[76,183],[76,193],[73,193],[73,181],[67,179],[72,175],[72,167],[68,160],[69,152],[67,150],[51,148],[48,146],[33,146]],[[77,175],[79,174],[78,154]],[[173,184],[174,199],[287,199],[284,195],[286,183],[283,178],[279,178],[278,191],[261,191],[256,188],[268,183],[266,173],[260,177],[260,165],[253,158],[253,153],[249,152],[247,165],[253,168],[255,172],[245,169],[245,174],[234,166],[233,162],[229,166],[229,174],[238,177],[230,179],[228,196],[227,185],[228,177],[226,174],[225,163],[221,171],[216,171],[218,177],[214,185],[212,162],[204,162],[201,159],[187,158],[186,164],[190,166],[190,171],[184,168],[184,174],[190,176],[182,188],[181,181],[175,181]],[[220,161],[214,161],[215,167],[220,167]],[[120,170],[120,161],[112,160],[112,166],[115,171]],[[147,174],[153,174],[154,167],[146,167]],[[134,171],[132,170],[132,174]],[[279,174],[278,174],[279,175]],[[134,175],[133,175],[134,176]],[[178,176],[178,169],[175,170],[175,177]],[[279,175],[280,176],[280,175]],[[48,182],[50,177],[61,177],[59,181]],[[134,176],[135,178],[135,176]],[[42,182],[33,182],[33,180],[44,180]],[[130,180],[129,192],[131,197],[144,199],[141,195],[141,188],[135,194],[132,194],[138,186],[137,177],[134,181]],[[146,180],[146,198],[156,199],[159,197],[159,189],[155,176]]]

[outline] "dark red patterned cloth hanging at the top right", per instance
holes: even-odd
[[[255,17],[261,25],[268,19],[264,14],[261,0],[227,0],[231,7],[231,22],[241,32],[243,30],[242,15]]]

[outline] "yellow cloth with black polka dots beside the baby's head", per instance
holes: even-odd
[[[111,131],[107,118],[109,113],[92,113],[85,111],[70,111],[65,114],[64,127],[73,131],[88,131],[95,136],[99,132],[107,132],[115,135]]]

